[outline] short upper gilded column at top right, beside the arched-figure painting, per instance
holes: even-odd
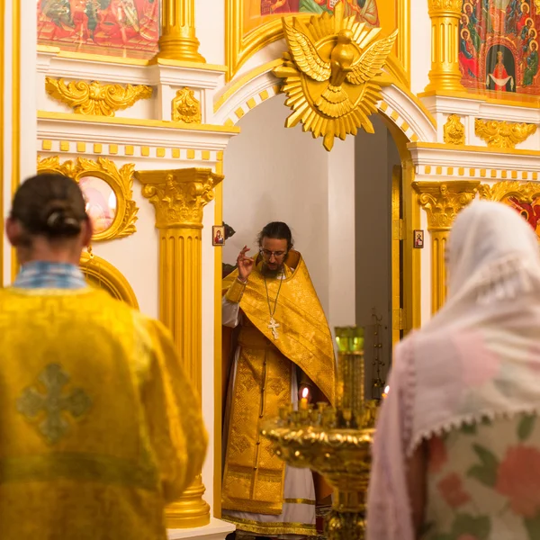
[[[459,18],[462,0],[428,0],[431,69],[426,92],[464,91],[459,70]]]

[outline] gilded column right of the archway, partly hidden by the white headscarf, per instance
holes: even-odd
[[[431,311],[435,313],[446,300],[445,250],[455,216],[473,201],[480,182],[414,182],[419,203],[428,214],[431,237]]]

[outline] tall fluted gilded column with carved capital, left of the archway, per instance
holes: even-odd
[[[156,210],[159,231],[159,319],[175,338],[186,374],[202,393],[202,209],[223,176],[211,169],[141,171],[142,194]],[[199,474],[166,509],[168,528],[202,527],[210,507]]]

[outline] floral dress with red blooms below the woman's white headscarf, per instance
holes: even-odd
[[[428,442],[422,540],[540,540],[540,421],[484,419]]]

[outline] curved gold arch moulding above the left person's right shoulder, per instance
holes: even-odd
[[[126,302],[135,310],[139,309],[137,296],[118,268],[105,259],[86,252],[82,254],[79,266],[92,286],[105,290],[112,298]]]

